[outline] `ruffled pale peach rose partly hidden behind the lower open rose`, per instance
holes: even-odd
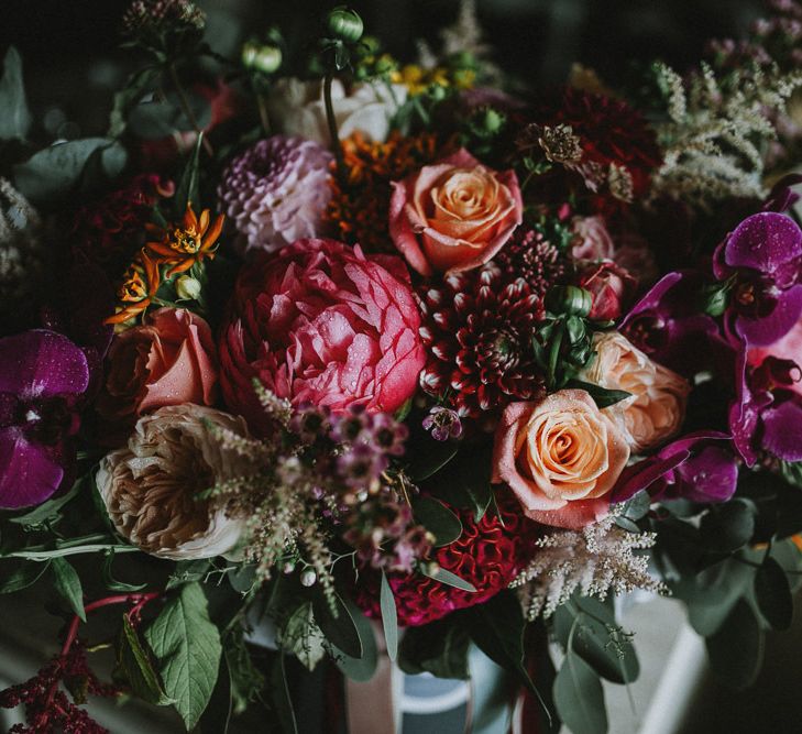
[[[652,362],[617,331],[597,335],[596,359],[582,379],[611,390],[631,393],[605,408],[627,432],[633,451],[644,451],[666,442],[685,417],[691,385],[662,364]]]

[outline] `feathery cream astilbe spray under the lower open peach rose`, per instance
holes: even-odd
[[[582,530],[559,530],[540,538],[537,556],[509,584],[520,588],[527,617],[551,616],[575,591],[604,600],[612,591],[666,593],[649,573],[649,557],[636,550],[655,545],[653,533],[628,533],[615,514]]]

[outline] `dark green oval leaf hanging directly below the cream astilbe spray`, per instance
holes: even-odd
[[[623,634],[612,610],[595,599],[574,598],[558,606],[553,631],[565,649],[571,638],[572,651],[603,678],[614,683],[631,683],[637,679],[640,666],[631,642]]]

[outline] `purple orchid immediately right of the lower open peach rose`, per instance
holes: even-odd
[[[626,502],[647,489],[653,500],[726,502],[738,483],[738,461],[722,441],[728,443],[729,436],[718,431],[697,431],[672,441],[622,472],[613,502]]]

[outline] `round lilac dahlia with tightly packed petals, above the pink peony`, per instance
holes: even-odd
[[[331,198],[325,147],[301,138],[273,135],[235,157],[218,189],[221,206],[239,232],[242,252],[274,252],[320,234]]]

